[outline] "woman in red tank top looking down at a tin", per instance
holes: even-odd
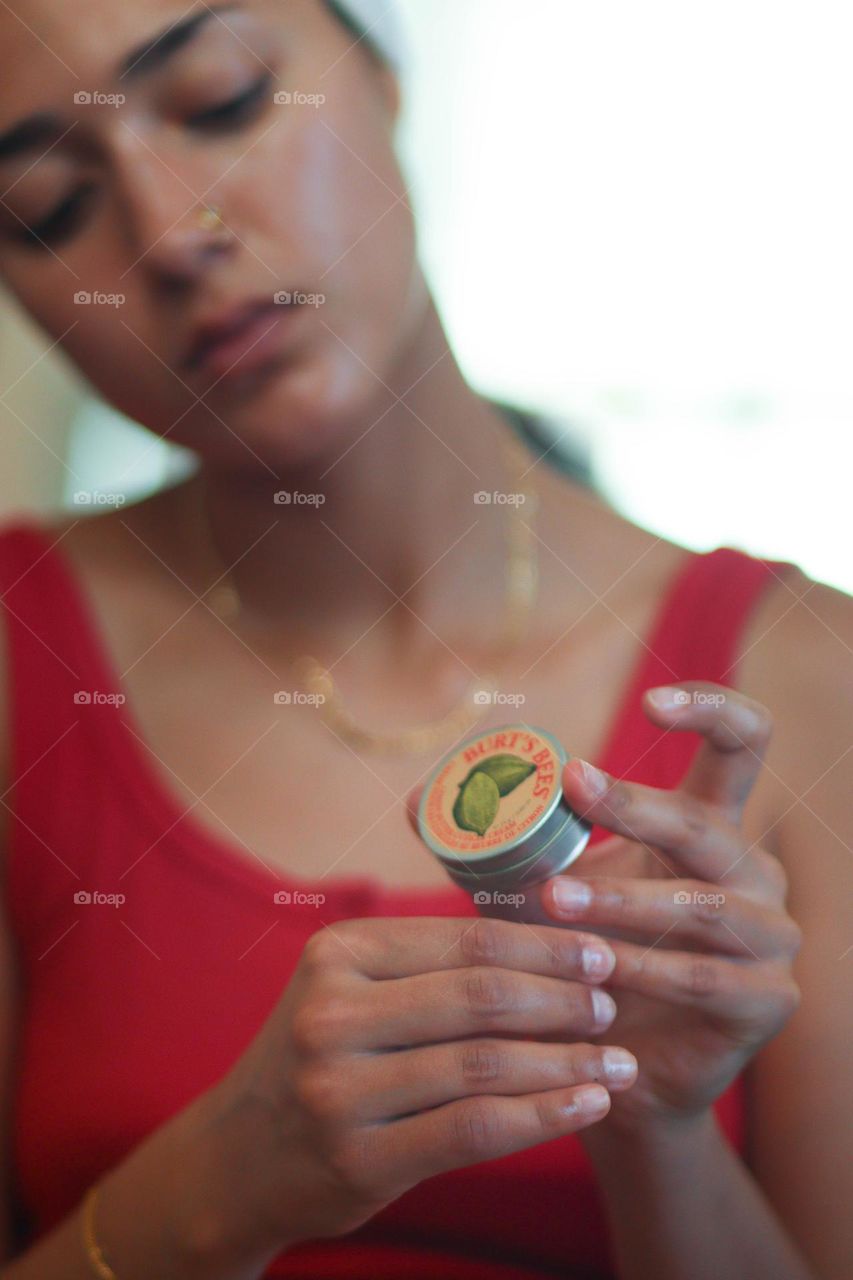
[[[850,603],[519,461],[387,9],[0,10],[4,279],[200,460],[0,539],[3,1275],[840,1280]],[[492,668],[603,768],[547,925],[402,820]]]

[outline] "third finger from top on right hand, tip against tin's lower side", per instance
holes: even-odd
[[[556,920],[612,925],[647,945],[666,936],[667,945],[724,955],[784,955],[799,934],[785,911],[703,881],[556,876],[542,886],[542,901]]]

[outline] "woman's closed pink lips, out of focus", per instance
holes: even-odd
[[[219,312],[197,326],[184,369],[218,381],[254,372],[282,355],[287,332],[301,310],[266,296]]]

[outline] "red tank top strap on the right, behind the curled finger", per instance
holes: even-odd
[[[642,709],[656,685],[707,680],[734,689],[744,627],[762,591],[790,561],[761,559],[734,547],[686,557],[665,593],[634,677],[602,754],[602,768],[653,786],[676,786],[701,739],[661,730]]]

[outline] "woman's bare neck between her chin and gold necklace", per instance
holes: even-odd
[[[474,494],[515,490],[500,448],[510,436],[462,378],[430,308],[389,385],[330,456],[280,467],[277,481],[202,466],[187,504],[192,545],[204,557],[213,540],[213,577],[220,561],[246,614],[320,660],[356,643],[360,658],[380,664],[393,653],[398,664],[403,652],[488,641],[503,616],[511,509]],[[277,486],[324,500],[275,504]]]

